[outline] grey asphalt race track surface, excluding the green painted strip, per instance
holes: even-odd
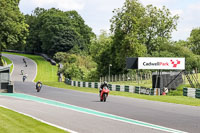
[[[8,57],[8,55],[5,55]],[[23,67],[22,58],[18,56],[9,57],[14,65],[15,63]],[[21,63],[19,63],[21,62]],[[30,60],[31,62],[31,60]],[[12,77],[19,76],[21,68],[14,67]],[[32,68],[33,67],[33,68]],[[28,73],[33,75],[35,73],[35,66],[28,65]],[[15,75],[16,74],[16,75]],[[29,75],[28,74],[28,75]],[[15,78],[12,78],[15,79]],[[42,97],[55,101],[60,101],[70,105],[93,109],[108,114],[114,114],[125,118],[139,120],[159,126],[164,126],[172,129],[177,129],[185,132],[199,133],[200,132],[200,108],[186,105],[170,104],[163,102],[147,101],[134,98],[125,98],[119,96],[109,96],[107,102],[99,102],[97,94],[84,93],[73,90],[65,90],[60,88],[43,86],[41,92],[37,93],[35,90],[35,83],[22,82],[17,78],[14,82],[15,91],[17,93],[24,93],[32,96]],[[29,77],[29,81],[32,81]],[[13,104],[14,103],[14,104]],[[138,126],[130,123],[124,123],[54,107],[47,104],[41,104],[34,101],[19,100],[7,96],[0,96],[0,104],[6,107],[31,114],[37,118],[43,119],[50,123],[65,127],[77,132],[111,132],[111,133],[157,133],[163,132],[144,126]]]

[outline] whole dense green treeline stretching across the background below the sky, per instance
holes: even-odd
[[[98,80],[108,75],[109,64],[111,74],[128,73],[126,57],[140,56],[185,57],[187,70],[200,69],[200,28],[193,29],[185,41],[172,41],[179,17],[166,7],[126,0],[122,8],[113,11],[111,33],[102,31],[96,37],[76,11],[36,8],[23,16],[19,1],[0,2],[4,5],[0,7],[4,22],[0,27],[1,48],[46,53],[63,63],[60,72],[67,78]]]

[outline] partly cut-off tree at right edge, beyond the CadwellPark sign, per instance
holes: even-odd
[[[200,28],[195,28],[191,31],[188,41],[189,48],[195,54],[200,55]]]

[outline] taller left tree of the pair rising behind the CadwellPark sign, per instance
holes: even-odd
[[[114,10],[111,19],[113,35],[112,70],[121,73],[125,70],[126,57],[138,57],[146,54],[144,45],[145,8],[137,0],[126,0],[121,9]]]

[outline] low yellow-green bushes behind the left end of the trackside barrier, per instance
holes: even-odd
[[[61,72],[66,78],[79,81],[98,80],[96,63],[89,56],[59,52],[55,54],[54,59],[64,64]]]

